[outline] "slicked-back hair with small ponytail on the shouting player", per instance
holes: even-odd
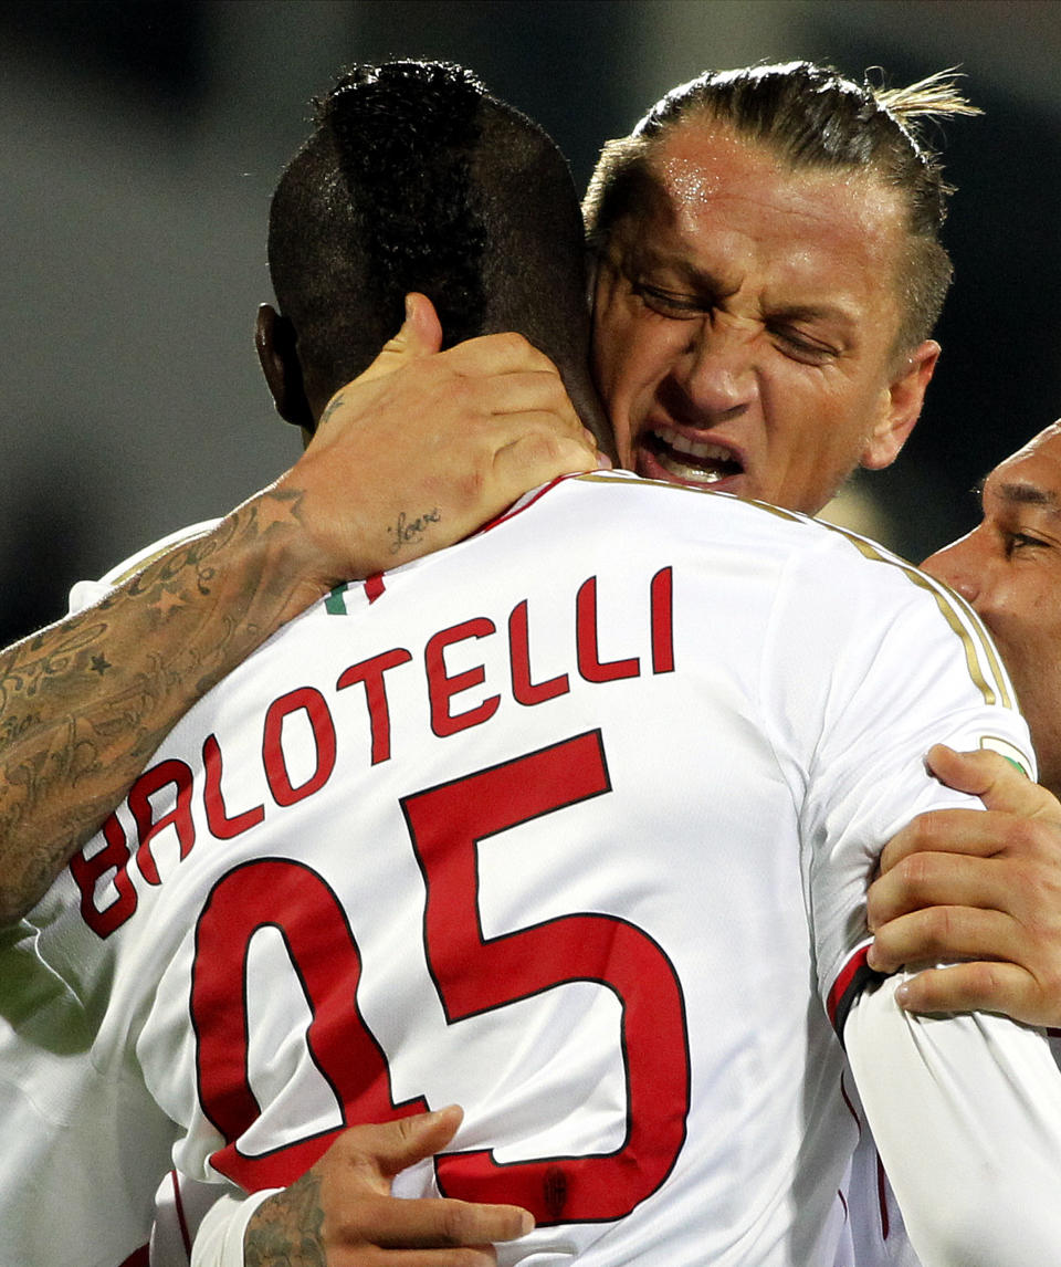
[[[952,275],[939,228],[953,190],[922,132],[927,120],[979,113],[951,71],[904,89],[855,84],[810,62],[705,71],[662,98],[629,137],[604,147],[582,204],[590,241],[601,248],[618,220],[646,214],[660,193],[653,147],[681,123],[728,127],[767,146],[794,172],[869,171],[895,191],[905,212],[896,283],[899,350],[907,350],[931,334]]]

